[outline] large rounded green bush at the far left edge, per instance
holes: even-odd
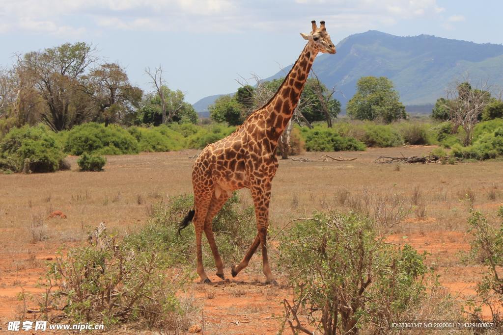
[[[40,125],[12,128],[0,141],[0,158],[14,172],[54,172],[64,158],[54,133]]]

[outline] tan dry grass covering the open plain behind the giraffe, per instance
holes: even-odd
[[[465,232],[467,205],[485,212],[497,208],[498,201],[501,202],[501,190],[494,182],[501,178],[501,163],[372,163],[379,156],[412,156],[428,154],[429,151],[431,148],[413,147],[337,153],[357,158],[351,162],[280,160],[273,182],[271,225],[283,227],[291,219],[310,216],[313,210],[362,211],[380,218],[387,231],[398,236],[396,243],[409,243],[420,251],[430,252],[429,265],[436,265],[439,271],[443,271],[441,280],[472,283],[480,277],[479,274],[470,277],[447,271],[460,265],[456,255],[461,247],[456,246],[467,248],[466,239],[455,236],[441,240],[438,236]],[[62,244],[85,242],[87,227],[96,227],[104,221],[109,229],[115,228],[120,233],[133,231],[146,223],[151,203],[192,192],[193,159],[190,156],[196,153],[191,150],[109,156],[106,170],[100,173],[76,172],[74,168],[48,174],[0,175],[0,185],[6,194],[0,197],[0,239],[3,241],[0,276],[13,276],[7,281],[6,290],[12,290],[14,281],[19,282],[14,276],[16,271],[19,271],[20,278],[26,275],[38,278],[39,274],[33,271],[24,273],[26,270],[21,267],[36,267],[40,254],[53,255]],[[320,154],[305,153],[302,156],[318,158]],[[75,160],[75,157],[68,158],[73,167],[76,167]],[[245,204],[251,203],[248,190],[239,192]],[[61,210],[67,219],[48,219],[53,210]],[[402,240],[402,236],[407,238]],[[29,251],[36,257],[28,255]],[[22,260],[23,264],[18,266],[19,262],[13,262],[16,259]],[[256,256],[245,273],[256,271],[259,280],[263,281],[261,270],[261,257]],[[275,270],[273,264],[273,272]],[[210,271],[213,272],[208,269],[208,273]],[[211,295],[205,285],[194,285],[190,290],[203,298]],[[228,293],[243,299],[249,292],[240,287],[229,287]],[[263,296],[266,300],[282,298],[275,297],[275,292]],[[219,291],[211,300],[212,304],[218,303],[220,298]],[[3,320],[1,308],[12,304],[14,296],[13,299],[0,301],[0,321]],[[183,321],[185,325],[191,322]]]

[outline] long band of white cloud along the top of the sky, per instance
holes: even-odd
[[[438,15],[436,0],[3,0],[0,33],[60,36],[104,30],[236,32],[308,29],[311,18],[331,27],[378,28]],[[320,13],[322,14],[320,16]],[[452,22],[461,16],[453,16]],[[328,22],[331,18],[334,21]],[[464,18],[463,18],[464,19]],[[459,20],[458,20],[459,21]]]

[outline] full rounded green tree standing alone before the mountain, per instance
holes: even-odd
[[[386,77],[362,77],[357,91],[348,101],[347,113],[353,119],[378,120],[391,123],[406,119],[405,106],[400,102],[393,82]]]

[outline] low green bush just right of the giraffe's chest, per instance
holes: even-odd
[[[365,145],[352,137],[342,137],[337,130],[315,126],[300,130],[307,151],[363,151]]]

